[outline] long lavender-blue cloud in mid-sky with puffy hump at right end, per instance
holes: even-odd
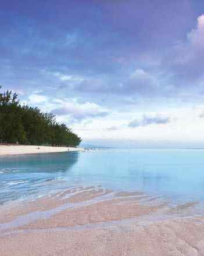
[[[119,96],[137,94],[146,97],[146,95],[152,94],[153,91],[159,89],[159,81],[156,79],[156,76],[140,68],[135,69],[133,73],[120,78],[120,80],[115,77],[114,81],[111,79],[109,81],[107,77],[83,77],[81,79],[74,79],[74,77],[70,76],[69,81],[68,86],[63,87],[83,94],[101,93]]]

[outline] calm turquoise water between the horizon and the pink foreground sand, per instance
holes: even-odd
[[[0,157],[0,203],[73,186],[204,200],[204,150],[95,150]]]

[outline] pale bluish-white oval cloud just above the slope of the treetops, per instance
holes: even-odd
[[[52,109],[52,113],[58,116],[69,115],[76,120],[100,118],[109,114],[105,108],[92,102],[64,102],[62,105],[59,108]]]

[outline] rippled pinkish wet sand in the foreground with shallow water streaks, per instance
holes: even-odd
[[[0,255],[204,255],[198,202],[77,187],[0,207]]]

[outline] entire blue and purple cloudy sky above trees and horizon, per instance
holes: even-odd
[[[0,22],[0,84],[85,143],[204,145],[204,1],[2,0]]]

